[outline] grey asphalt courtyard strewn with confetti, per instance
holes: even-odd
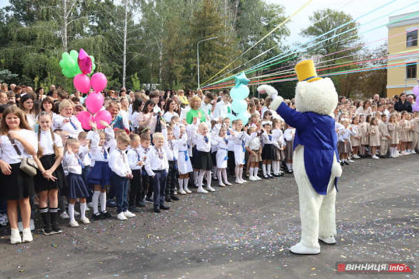
[[[52,236],[41,233],[36,213],[32,243],[11,245],[10,227],[0,228],[0,278],[414,278],[337,274],[335,262],[417,261],[418,169],[419,155],[344,167],[337,245],[321,245],[320,255],[289,252],[300,239],[300,213],[295,180],[286,174],[179,196],[160,214],[147,204],[126,221],[115,210],[110,220],[78,228],[60,220],[64,233]]]

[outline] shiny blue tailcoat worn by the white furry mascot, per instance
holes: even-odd
[[[315,112],[297,112],[286,103],[279,105],[277,113],[288,125],[295,128],[293,148],[295,149],[297,144],[304,146],[304,167],[311,186],[318,194],[327,195],[333,153],[339,162],[335,119]]]

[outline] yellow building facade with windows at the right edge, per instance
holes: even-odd
[[[388,66],[387,96],[392,97],[404,92],[412,93],[413,86],[418,85],[418,10],[404,15],[389,18],[388,24]],[[402,20],[400,20],[402,19]],[[415,53],[416,52],[416,53]]]

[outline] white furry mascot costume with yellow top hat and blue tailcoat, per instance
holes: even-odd
[[[335,199],[337,177],[341,166],[337,158],[335,116],[337,92],[330,78],[316,74],[312,60],[295,66],[299,82],[295,89],[295,108],[277,96],[269,85],[258,87],[272,100],[276,110],[289,126],[295,128],[294,176],[300,195],[301,241],[291,252],[302,255],[320,253],[318,241],[335,244]]]

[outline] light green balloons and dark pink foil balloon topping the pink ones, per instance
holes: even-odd
[[[88,56],[89,59],[87,59],[86,56],[88,56],[87,53],[82,49],[80,50],[80,54],[77,52],[77,50],[71,50],[69,54],[68,52],[61,54],[62,59],[59,61],[59,66],[61,66],[61,73],[63,73],[65,77],[75,77],[81,73],[93,73],[94,69],[96,68],[96,65],[94,64],[94,57]],[[79,60],[80,58],[82,59],[81,63]],[[80,64],[82,66],[80,66]],[[90,69],[88,73],[86,73],[87,68]]]

